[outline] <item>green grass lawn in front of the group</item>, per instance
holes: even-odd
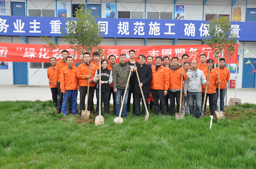
[[[255,111],[256,105],[235,107]],[[255,168],[255,112],[214,121],[211,130],[209,117],[153,114],[145,122],[130,113],[122,124],[107,115],[94,126],[75,123],[73,115],[59,120],[52,101],[0,102],[0,167]]]

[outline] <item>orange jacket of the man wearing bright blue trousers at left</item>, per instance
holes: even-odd
[[[65,66],[61,70],[61,92],[66,90],[77,90],[78,89],[78,79],[76,76],[77,68],[73,66],[72,70]]]

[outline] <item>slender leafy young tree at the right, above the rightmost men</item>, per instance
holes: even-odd
[[[227,67],[228,60],[235,54],[235,44],[237,40],[237,35],[233,33],[232,23],[229,21],[229,17],[218,17],[210,20],[207,23],[207,28],[208,34],[203,38],[203,41],[212,48],[215,58],[219,59],[223,56],[226,60]]]

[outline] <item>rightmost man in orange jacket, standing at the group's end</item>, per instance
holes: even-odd
[[[216,71],[218,71],[218,68],[215,68]],[[224,113],[224,99],[226,95],[226,89],[227,89],[227,82],[230,79],[230,70],[225,67],[225,59],[220,58],[220,100],[221,105],[219,105],[221,108],[220,110]],[[215,94],[215,101],[214,101],[214,108],[215,112],[217,111],[217,102],[218,102],[218,85],[216,86],[216,94]]]

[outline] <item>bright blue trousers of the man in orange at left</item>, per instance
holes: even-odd
[[[67,102],[71,98],[73,115],[77,115],[77,90],[66,90],[63,93],[63,102],[61,112],[67,115]]]

